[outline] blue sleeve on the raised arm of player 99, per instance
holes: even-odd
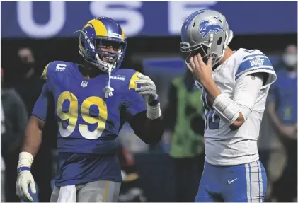
[[[128,119],[139,112],[146,111],[144,99],[134,89],[130,90],[124,102],[125,114]]]

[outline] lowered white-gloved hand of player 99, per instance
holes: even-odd
[[[33,198],[29,194],[28,185],[31,189],[31,192],[35,194],[35,182],[31,172],[28,170],[18,173],[18,178],[16,180],[16,195],[26,202],[33,202]]]

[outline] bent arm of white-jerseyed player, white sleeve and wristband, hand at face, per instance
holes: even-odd
[[[207,91],[207,97],[212,108],[229,122],[232,130],[239,129],[248,118],[256,101],[258,92],[263,86],[263,73],[254,74],[253,77],[248,74],[246,76],[241,76],[236,80],[234,98],[229,98],[219,90],[212,79],[211,59],[212,58],[210,57],[207,64],[205,64],[202,62],[200,56],[195,60],[192,58],[192,66],[188,65],[188,68],[195,73],[197,79]],[[239,95],[242,97],[245,96],[245,99],[250,102],[243,105],[243,100],[240,102],[238,99]]]

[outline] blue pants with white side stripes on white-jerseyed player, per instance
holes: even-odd
[[[206,161],[196,199],[200,202],[212,194],[210,197],[224,202],[263,202],[266,190],[267,176],[259,160],[236,166],[214,166]]]

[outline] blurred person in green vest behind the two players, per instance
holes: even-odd
[[[204,168],[204,119],[201,91],[186,71],[173,79],[166,108],[166,129],[172,134],[170,156],[175,163],[176,202],[193,202]]]

